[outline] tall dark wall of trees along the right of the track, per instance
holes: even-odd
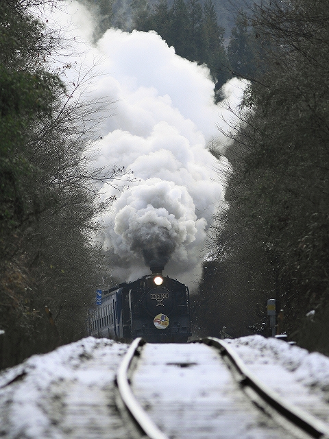
[[[289,337],[328,354],[328,2],[272,1],[249,23],[264,69],[226,152],[230,209],[213,230],[199,324],[267,335],[266,300],[276,298]]]

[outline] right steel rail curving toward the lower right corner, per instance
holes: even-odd
[[[278,414],[289,420],[293,425],[302,429],[306,434],[313,438],[329,438],[329,426],[315,416],[304,412],[304,410],[284,401],[274,390],[262,383],[245,366],[239,355],[230,347],[229,344],[215,337],[206,337],[199,342],[214,346],[219,349],[222,357],[228,357],[230,363],[239,374],[239,383],[243,388],[251,388],[260,398],[265,401]]]

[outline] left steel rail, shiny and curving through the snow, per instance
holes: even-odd
[[[139,337],[136,338],[130,347],[128,348],[125,357],[117,370],[116,383],[119,389],[120,397],[127,409],[132,416],[134,422],[138,427],[147,435],[149,439],[169,439],[156,424],[149,418],[143,407],[136,400],[134,393],[130,387],[130,379],[128,378],[128,371],[132,363],[132,359],[139,355],[138,348],[143,346],[145,341]]]

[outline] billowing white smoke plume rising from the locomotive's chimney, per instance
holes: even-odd
[[[69,10],[75,32],[90,38],[88,12],[75,1]],[[102,198],[117,196],[98,238],[112,254],[113,275],[127,281],[165,265],[165,274],[191,286],[202,270],[212,215],[223,202],[218,171],[228,166],[207,143],[219,136],[217,126],[225,130],[223,120],[232,121],[226,104],[239,104],[244,84],[230,80],[226,102],[215,105],[208,68],[177,56],[155,32],[109,29],[84,57],[87,64],[101,59],[102,75],[90,84],[90,95],[116,102],[93,145],[95,166],[129,167],[136,177],[122,192],[99,188]]]

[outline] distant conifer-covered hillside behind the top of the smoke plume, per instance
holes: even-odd
[[[217,100],[221,86],[233,76],[251,76],[258,40],[252,27],[241,21],[241,10],[252,1],[230,0],[79,0],[95,18],[94,38],[116,27],[127,32],[155,31],[175,53],[206,64],[215,82]]]

